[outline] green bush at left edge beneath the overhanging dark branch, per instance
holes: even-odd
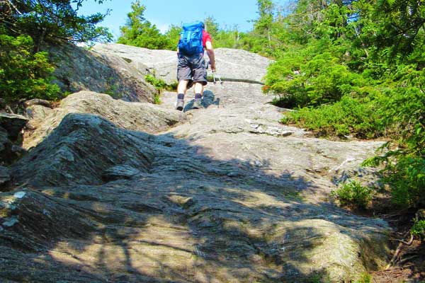
[[[33,53],[33,40],[29,36],[0,35],[0,93],[6,103],[21,99],[59,98],[60,88],[50,83],[54,68],[47,53]]]

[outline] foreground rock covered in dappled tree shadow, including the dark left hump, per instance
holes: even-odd
[[[266,160],[81,114],[26,158],[0,194],[10,282],[348,282],[385,260],[384,221],[305,202],[314,184]],[[137,173],[101,178],[123,164]]]

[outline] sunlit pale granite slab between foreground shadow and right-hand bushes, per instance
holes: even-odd
[[[282,125],[278,121],[288,110],[271,105],[273,98],[264,96],[259,84],[210,83],[204,94],[205,109],[194,111],[193,94],[188,93],[183,109],[188,122],[170,132],[190,140],[208,156],[249,162],[271,175],[288,173],[309,180],[317,187],[303,195],[307,199],[319,199],[349,178],[376,181],[376,169],[361,163],[375,154],[382,141],[318,139],[304,129]],[[173,108],[175,99],[175,93],[165,93],[164,107]]]

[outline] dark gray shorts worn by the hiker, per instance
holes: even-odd
[[[179,54],[179,64],[177,64],[177,80],[188,80],[188,88],[193,83],[207,84],[207,68],[203,54],[185,56]]]

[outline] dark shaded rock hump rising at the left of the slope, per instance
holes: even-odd
[[[101,184],[103,171],[118,164],[147,171],[152,153],[134,135],[95,115],[69,114],[48,139],[13,165],[13,178],[34,186]]]

